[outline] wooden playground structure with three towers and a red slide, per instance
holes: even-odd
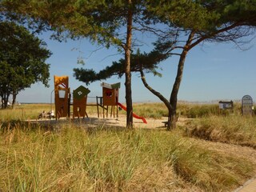
[[[73,91],[73,102],[71,102],[69,77],[58,77],[54,75],[55,119],[70,118],[70,116],[72,116],[73,119],[85,118],[85,116],[88,118],[86,106],[96,106],[98,118],[100,117],[100,108],[102,109],[103,118],[105,118],[105,114],[106,118],[108,118],[109,109],[110,118],[112,115],[114,118],[115,116],[118,118],[118,107],[122,108],[122,110],[126,110],[126,107],[118,102],[120,85],[120,82],[114,84],[102,82],[102,97],[94,97],[96,98],[96,104],[87,103],[90,90],[84,86],[79,86]],[[73,108],[72,115],[70,113],[71,108]],[[136,114],[133,114],[133,116],[134,118],[142,119],[142,121],[146,123],[145,118],[139,117]]]

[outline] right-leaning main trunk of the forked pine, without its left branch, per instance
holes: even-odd
[[[194,38],[194,31],[192,31],[190,33],[190,36],[186,42],[186,45],[184,46],[184,48],[182,50],[182,54],[178,61],[178,70],[177,70],[173,90],[171,91],[171,94],[170,94],[170,105],[172,106],[172,108],[170,110],[168,119],[170,119],[170,127],[172,129],[176,128],[176,122],[178,120],[177,115],[176,115],[177,102],[178,102],[178,99],[177,99],[178,98],[178,90],[179,90],[179,86],[182,82],[182,74],[183,74],[184,63],[186,60],[186,55],[187,55],[187,52],[190,50],[190,45],[191,45],[193,38]]]

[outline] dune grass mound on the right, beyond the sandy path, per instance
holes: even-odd
[[[186,134],[214,142],[227,142],[256,149],[256,118],[251,116],[210,116],[197,118],[186,126]]]

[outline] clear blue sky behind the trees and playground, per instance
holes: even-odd
[[[51,93],[54,90],[54,75],[68,75],[71,91],[78,86],[86,86],[85,83],[78,82],[73,77],[73,69],[80,67],[77,64],[78,57],[85,59],[86,65],[83,67],[96,71],[102,70],[113,61],[123,57],[122,54],[117,54],[117,50],[113,47],[109,50],[106,48],[97,50],[98,46],[92,45],[86,39],[58,42],[50,40],[49,34],[42,34],[40,38],[47,43],[48,49],[53,53],[47,60],[47,63],[50,63],[50,87],[46,88],[42,86],[42,83],[36,83],[18,94],[18,102],[50,102]],[[146,42],[146,38],[144,41]],[[246,51],[239,50],[232,43],[210,43],[194,47],[186,58],[178,100],[189,102],[238,100],[245,94],[256,99],[255,43],[254,39],[250,44],[244,46],[250,47],[250,50]],[[143,49],[150,50],[150,45],[144,46]],[[178,58],[175,56],[162,62],[162,78],[146,74],[150,86],[168,99],[176,76],[177,63]],[[108,83],[121,82],[120,102],[125,102],[124,81],[124,78],[118,77],[104,81]],[[94,82],[86,86],[90,90],[89,97],[102,96],[100,83]],[[139,74],[132,74],[132,95],[133,102],[160,102],[142,85]],[[54,97],[54,94],[52,96]],[[94,98],[90,98],[89,101],[94,102]]]

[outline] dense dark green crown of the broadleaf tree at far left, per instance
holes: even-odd
[[[34,82],[48,86],[46,43],[14,22],[0,22],[0,95],[15,94]]]

